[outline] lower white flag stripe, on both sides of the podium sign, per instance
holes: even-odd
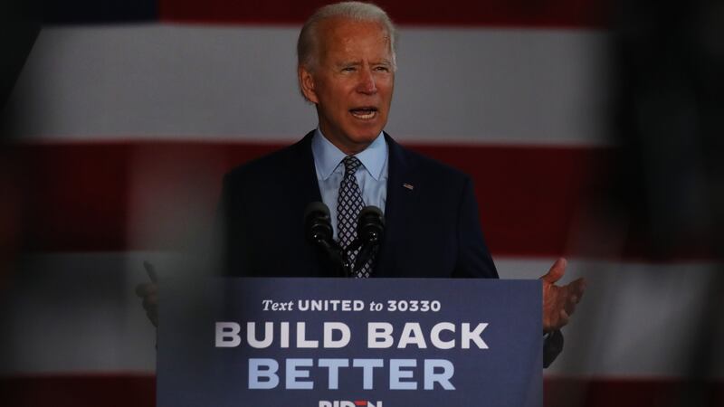
[[[184,261],[168,252],[74,252],[27,257],[15,276],[0,374],[153,372],[155,332],[133,288]],[[535,279],[554,259],[497,259],[501,278]],[[586,297],[566,327],[548,375],[681,377],[696,348],[697,317],[714,263],[647,264],[572,259],[566,281],[586,277]],[[714,324],[716,321],[711,321]],[[716,327],[712,325],[712,327]],[[724,378],[716,361],[713,378]]]

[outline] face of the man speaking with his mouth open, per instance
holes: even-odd
[[[346,154],[369,146],[387,123],[395,86],[390,38],[381,24],[332,18],[319,24],[319,60],[300,67],[319,128]]]

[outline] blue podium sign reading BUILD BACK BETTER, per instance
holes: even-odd
[[[207,279],[160,304],[159,407],[542,405],[537,280]]]

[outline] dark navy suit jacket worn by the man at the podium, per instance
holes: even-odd
[[[304,210],[321,201],[313,134],[225,176],[219,221],[226,275],[332,275],[322,253],[304,238]],[[498,278],[470,177],[385,137],[386,231],[373,277]]]

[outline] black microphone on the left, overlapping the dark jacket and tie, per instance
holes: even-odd
[[[332,240],[332,223],[329,220],[329,208],[326,204],[312,202],[307,205],[304,210],[304,233],[308,241],[327,254],[332,268],[338,275],[347,275],[342,250],[338,243]]]

